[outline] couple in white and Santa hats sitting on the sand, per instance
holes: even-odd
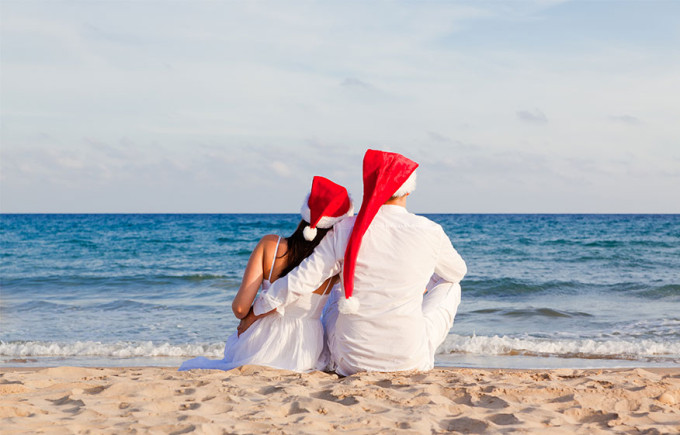
[[[263,237],[250,256],[224,359],[198,357],[180,370],[256,364],[348,376],[434,367],[467,269],[440,225],[406,210],[417,167],[368,150],[356,217],[344,187],[314,177],[295,232]]]

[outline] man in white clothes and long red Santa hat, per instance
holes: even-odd
[[[453,323],[467,268],[440,225],[406,210],[417,167],[400,154],[368,150],[356,218],[338,223],[255,301],[254,313],[266,313],[342,271],[345,297],[327,325],[339,374],[429,370]],[[423,296],[428,282],[434,288]]]

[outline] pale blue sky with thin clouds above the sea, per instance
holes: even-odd
[[[678,1],[0,0],[0,211],[680,213]]]

